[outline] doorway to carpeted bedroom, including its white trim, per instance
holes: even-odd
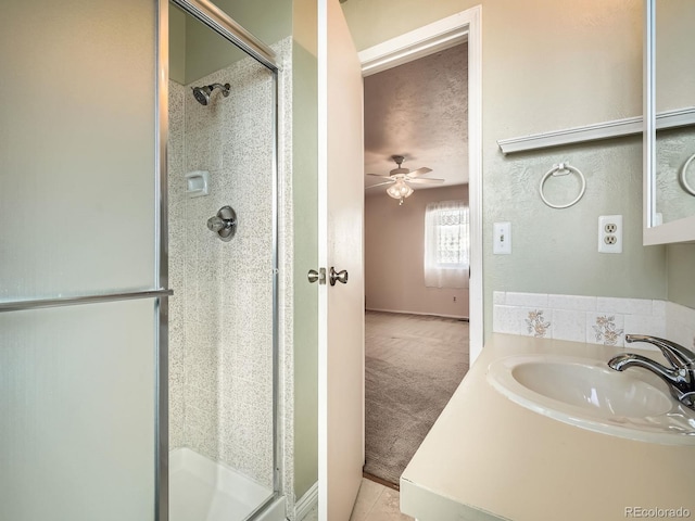
[[[409,50],[404,43],[408,35],[404,35],[394,39],[397,41],[390,40],[361,53],[363,72],[366,76],[365,171],[389,176],[390,169],[387,166],[389,153],[384,147],[389,143],[394,147],[389,140],[390,137],[417,143],[414,153],[409,154],[412,156],[410,164],[407,165],[409,170],[418,171],[417,169],[422,167],[430,167],[430,163],[437,160],[448,160],[448,164],[447,161],[440,161],[431,174],[418,176],[418,179],[444,178],[445,182],[435,185],[434,181],[427,181],[427,187],[438,187],[428,190],[418,190],[421,185],[414,182],[413,195],[402,199],[401,205],[399,201],[388,198],[384,193],[386,188],[389,188],[388,178],[384,182],[383,178],[365,176],[367,187],[375,185],[375,181],[379,185],[366,190],[365,203],[365,304],[367,309],[365,474],[369,478],[376,474],[377,481],[390,483],[394,487],[397,487],[400,474],[457,387],[482,343],[480,291],[482,279],[479,268],[481,265],[479,40],[476,33],[475,41],[469,48],[466,41],[468,30],[470,25],[476,23],[463,24],[465,27],[460,24],[462,15],[476,18],[478,14],[476,10],[470,10],[432,24],[435,27],[429,29],[425,27],[414,31],[417,35],[410,35],[410,37],[418,41]],[[458,28],[456,28],[457,24]],[[457,34],[462,28],[464,30]],[[427,30],[431,30],[432,35],[438,34],[439,38],[445,41],[438,41],[438,38],[432,36],[429,42],[424,43],[422,34]],[[476,27],[475,30],[478,28]],[[457,92],[454,85],[456,78],[448,77],[446,71],[447,67],[450,71],[457,72],[463,68],[467,73],[469,55],[472,55],[472,74],[470,78],[466,74],[463,82],[466,87],[471,86],[470,102],[473,106],[470,111],[471,118],[467,120],[468,89],[465,89],[463,94]],[[439,63],[438,59],[440,59]],[[431,62],[429,68],[428,66],[417,67],[418,62],[427,61]],[[401,69],[400,73],[399,69]],[[375,71],[377,74],[372,75]],[[417,90],[416,88],[399,87],[399,82],[410,85],[424,81],[427,84],[426,80],[429,77],[441,79],[445,86],[443,91],[430,92],[433,98],[439,98],[441,102],[439,106],[404,94],[404,92],[412,93],[413,90]],[[387,100],[383,92],[379,91],[390,81],[395,82],[395,86],[391,85],[393,96],[391,100]],[[372,88],[372,85],[377,87]],[[432,89],[432,87],[427,88]],[[375,91],[377,92],[376,101],[370,99]],[[454,117],[453,107],[460,107],[462,103],[454,103],[452,96],[459,96],[466,101],[463,103],[463,117],[459,122]],[[394,106],[383,111],[380,104],[384,101]],[[408,112],[413,115],[407,115]],[[427,123],[430,112],[441,112],[435,114],[433,118],[435,123],[432,126]],[[380,118],[383,122],[383,128],[377,130],[370,128],[372,117]],[[456,135],[457,125],[466,130],[463,139]],[[440,139],[435,136],[438,130],[441,130]],[[469,135],[471,139],[468,143]],[[452,137],[448,142],[446,142],[447,136]],[[433,144],[430,143],[428,147],[426,141],[429,137],[432,137]],[[470,157],[468,150],[471,150]],[[409,151],[401,148],[392,150],[391,153],[405,155]],[[377,165],[379,160],[383,161],[380,171],[372,173],[376,166],[371,165]],[[452,163],[455,163],[453,167]],[[391,165],[391,168],[400,166]],[[470,187],[467,182],[469,171],[472,173]],[[460,182],[462,180],[466,182]],[[422,281],[422,221],[427,203],[459,200],[468,205],[469,190],[472,223],[470,223],[471,255],[467,268],[475,266],[471,270],[476,274],[475,280],[471,278],[470,284],[466,283],[465,288],[458,289],[446,288],[446,285],[456,285],[446,283],[440,284],[440,288],[427,288],[432,285]],[[413,244],[408,245],[408,243]],[[379,257],[382,257],[381,262],[378,260]],[[472,297],[470,307],[468,306],[469,290]],[[462,302],[464,298],[465,303]],[[471,321],[479,319],[470,325],[470,336],[475,342],[475,347],[471,350],[468,348],[468,318],[471,318]],[[441,323],[435,323],[437,321]],[[457,330],[456,322],[460,331]],[[445,338],[443,344],[437,338],[439,332],[442,332]],[[397,345],[399,343],[401,345]],[[438,343],[442,345],[432,345]],[[412,346],[408,347],[408,344]],[[429,367],[430,363],[437,361],[442,356],[444,359],[448,357],[448,365],[444,363],[441,366],[443,370],[432,371],[432,367]],[[419,364],[418,360],[420,360]],[[390,378],[390,374],[400,376]],[[389,425],[392,421],[391,417],[395,417],[399,423],[395,429]],[[380,439],[380,435],[383,437]]]

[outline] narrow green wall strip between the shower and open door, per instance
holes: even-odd
[[[316,5],[294,2],[292,193],[294,226],[294,494],[318,480],[318,62]]]

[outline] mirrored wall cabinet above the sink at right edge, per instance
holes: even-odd
[[[695,242],[693,22],[693,0],[645,0],[645,245]]]

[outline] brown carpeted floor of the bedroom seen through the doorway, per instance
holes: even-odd
[[[397,484],[468,371],[468,322],[366,313],[364,471]]]

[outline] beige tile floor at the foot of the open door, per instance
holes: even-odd
[[[414,518],[401,513],[400,494],[393,488],[374,481],[362,479],[359,493],[350,521],[410,521]],[[318,507],[304,518],[304,521],[318,521]]]

